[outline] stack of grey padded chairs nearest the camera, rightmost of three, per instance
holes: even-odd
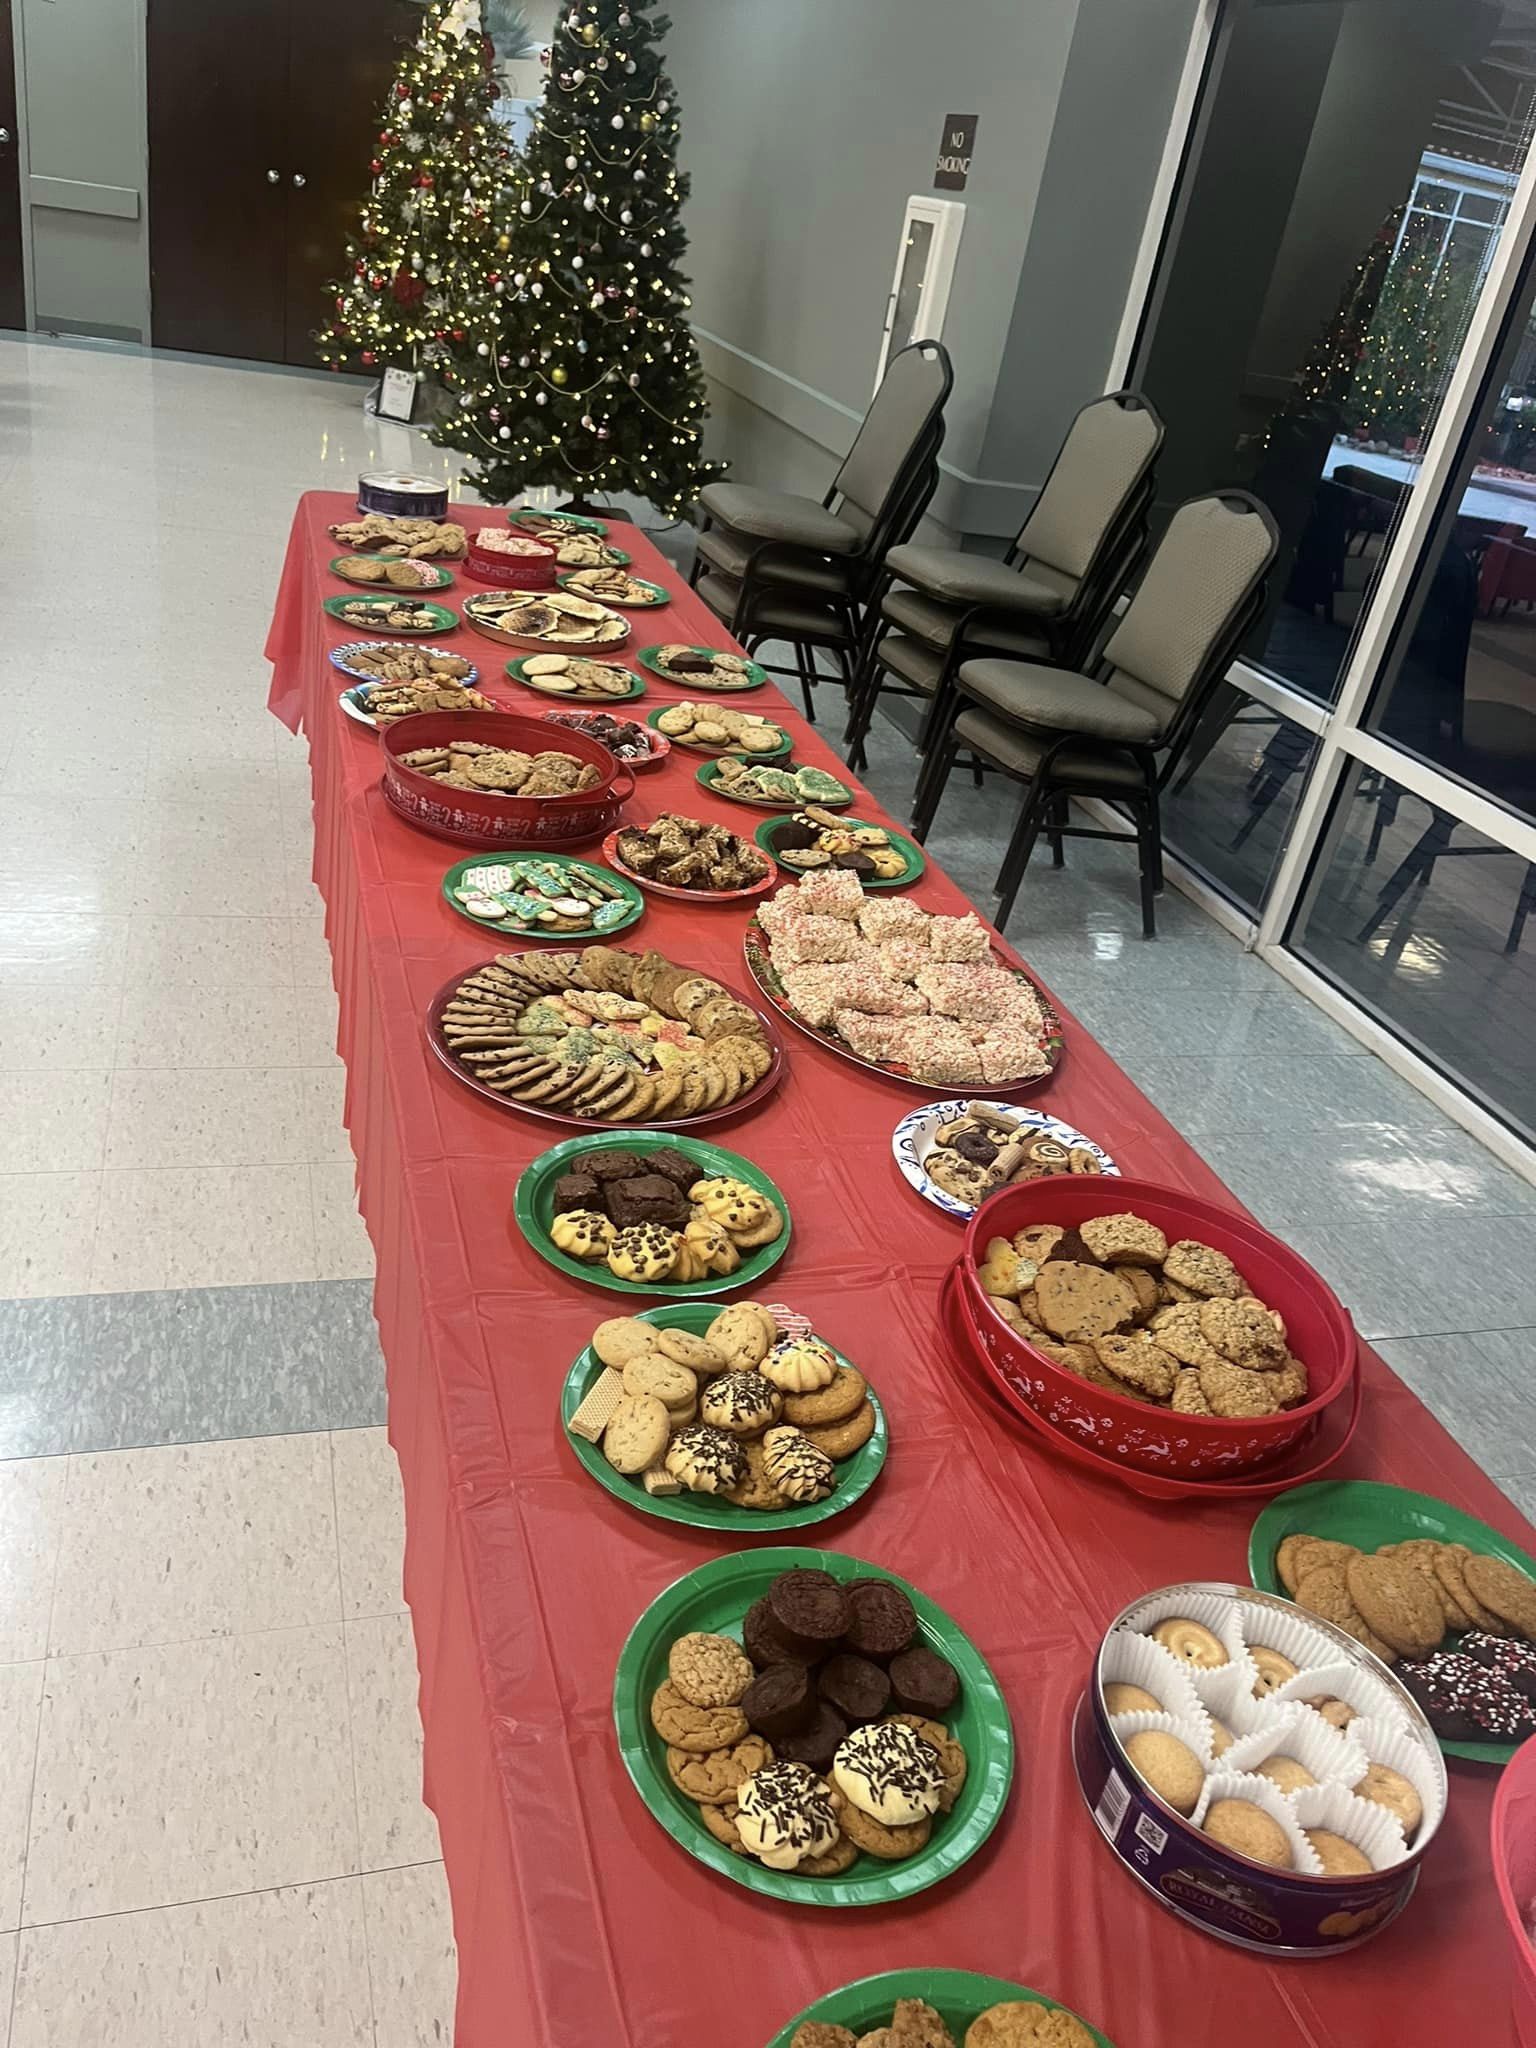
[[[934,741],[934,776],[913,831],[928,836],[961,752],[1026,784],[997,874],[995,924],[1008,922],[1040,829],[1055,866],[1061,842],[1130,840],[1141,864],[1141,928],[1155,938],[1163,887],[1159,793],[1210,694],[1260,618],[1264,580],[1280,545],[1270,510],[1249,492],[1190,498],[1167,522],[1124,616],[1092,676],[1040,662],[981,657],[956,678],[956,707]],[[1102,797],[1135,831],[1069,825],[1071,797]]]

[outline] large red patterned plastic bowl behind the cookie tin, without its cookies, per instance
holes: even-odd
[[[1030,1223],[1077,1225],[1087,1217],[1110,1217],[1126,1208],[1155,1223],[1169,1243],[1196,1237],[1233,1260],[1253,1292],[1284,1317],[1290,1350],[1311,1376],[1309,1401],[1280,1415],[1245,1419],[1174,1415],[1092,1386],[1036,1352],[997,1315],[977,1278],[977,1262],[991,1237],[1012,1237]],[[1194,1481],[1251,1473],[1294,1450],[1313,1432],[1317,1417],[1358,1384],[1360,1346],[1354,1323],[1303,1257],[1247,1217],[1149,1180],[1063,1176],[1001,1188],[967,1225],[958,1298],[975,1341],[1012,1403],[1120,1468]]]

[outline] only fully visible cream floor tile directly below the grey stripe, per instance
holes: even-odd
[[[326,1436],[68,1464],[55,1657],[340,1620]]]

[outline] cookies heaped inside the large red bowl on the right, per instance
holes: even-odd
[[[1307,1366],[1225,1251],[1128,1210],[993,1237],[977,1280],[1036,1352],[1092,1386],[1180,1415],[1298,1407]]]

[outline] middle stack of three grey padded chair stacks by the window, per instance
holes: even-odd
[[[1137,391],[1083,406],[1001,561],[958,547],[893,547],[877,629],[848,707],[848,766],[864,762],[874,707],[928,700],[920,748],[942,729],[963,662],[981,653],[1079,668],[1147,549],[1163,422]],[[891,627],[893,631],[887,631]],[[895,682],[887,684],[887,676]]]

